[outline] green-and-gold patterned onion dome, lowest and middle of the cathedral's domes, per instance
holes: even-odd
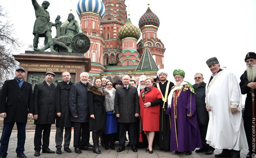
[[[120,40],[128,37],[136,38],[137,40],[139,40],[140,34],[141,32],[139,28],[132,24],[130,18],[128,19],[126,24],[124,24],[124,26],[122,26],[118,31],[118,37]]]

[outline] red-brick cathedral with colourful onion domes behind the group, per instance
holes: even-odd
[[[82,32],[91,43],[85,53],[91,60],[91,81],[96,77],[115,81],[130,75],[138,83],[141,75],[156,78],[164,68],[158,17],[148,7],[137,28],[132,23],[137,19],[127,18],[126,7],[125,0],[79,0],[77,4]]]

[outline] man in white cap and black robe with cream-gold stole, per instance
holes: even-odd
[[[170,149],[170,116],[166,114],[166,109],[168,106],[168,95],[171,92],[171,87],[174,84],[167,80],[168,73],[165,69],[160,69],[157,71],[157,76],[160,82],[155,84],[154,87],[162,94],[162,102],[160,103],[160,131],[155,133],[155,144],[158,145],[160,149]]]

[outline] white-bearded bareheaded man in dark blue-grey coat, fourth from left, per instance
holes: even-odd
[[[89,74],[82,72],[80,82],[71,86],[70,89],[70,120],[74,124],[74,148],[75,153],[81,154],[81,150],[92,150],[88,147],[89,132],[89,106],[87,91],[92,85],[88,83]],[[80,141],[81,139],[81,141]]]

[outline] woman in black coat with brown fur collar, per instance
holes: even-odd
[[[104,100],[106,93],[102,90],[102,80],[96,78],[94,86],[88,89],[88,105],[89,105],[89,131],[92,131],[92,150],[96,154],[101,154],[98,148],[100,132],[104,132],[106,123],[106,110]]]

